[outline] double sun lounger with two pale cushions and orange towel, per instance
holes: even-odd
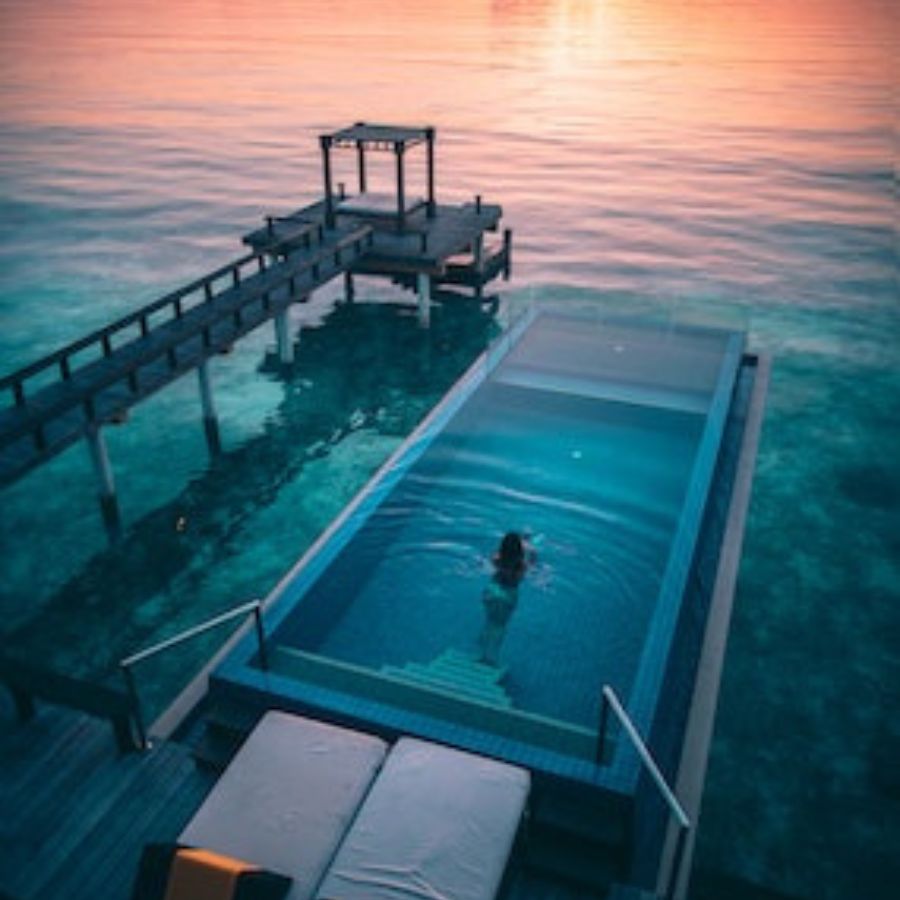
[[[414,738],[387,758],[386,749],[369,735],[266,713],[175,849],[145,851],[134,896],[171,890],[178,853],[178,878],[230,885],[275,873],[292,879],[273,895],[287,900],[493,900],[528,772]],[[259,871],[238,872],[248,866]]]

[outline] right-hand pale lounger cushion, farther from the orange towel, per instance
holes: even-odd
[[[316,896],[490,900],[529,787],[523,769],[402,738]]]

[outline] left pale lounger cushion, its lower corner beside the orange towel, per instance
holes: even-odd
[[[378,738],[268,712],[179,840],[289,875],[289,900],[307,900],[385,752]]]

